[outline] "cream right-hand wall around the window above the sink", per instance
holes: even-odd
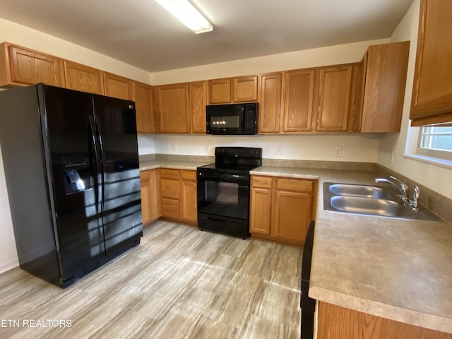
[[[419,133],[418,128],[412,128],[409,126],[419,14],[420,0],[415,0],[391,37],[391,41],[393,42],[411,40],[410,60],[408,63],[405,102],[403,105],[402,128],[398,134],[383,136],[383,138],[381,138],[378,163],[405,175],[405,177],[413,179],[415,182],[419,182],[420,184],[429,187],[439,194],[452,198],[452,180],[449,179],[452,177],[452,169],[430,165],[425,162],[403,157],[404,153],[413,152],[413,149],[415,149],[417,143],[417,135]],[[394,157],[393,162],[391,163],[392,151],[394,151]]]

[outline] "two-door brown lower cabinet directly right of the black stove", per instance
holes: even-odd
[[[251,236],[303,246],[315,217],[316,191],[316,180],[252,175]]]

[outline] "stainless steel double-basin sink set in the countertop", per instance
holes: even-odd
[[[441,221],[425,208],[413,211],[392,191],[391,187],[326,182],[323,184],[323,209],[386,218]]]

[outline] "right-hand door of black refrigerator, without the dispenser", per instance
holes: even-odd
[[[143,235],[135,104],[94,95],[106,254]]]

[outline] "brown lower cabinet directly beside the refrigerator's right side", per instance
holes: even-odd
[[[140,172],[141,181],[141,214],[143,225],[160,218],[160,175],[159,169]]]

